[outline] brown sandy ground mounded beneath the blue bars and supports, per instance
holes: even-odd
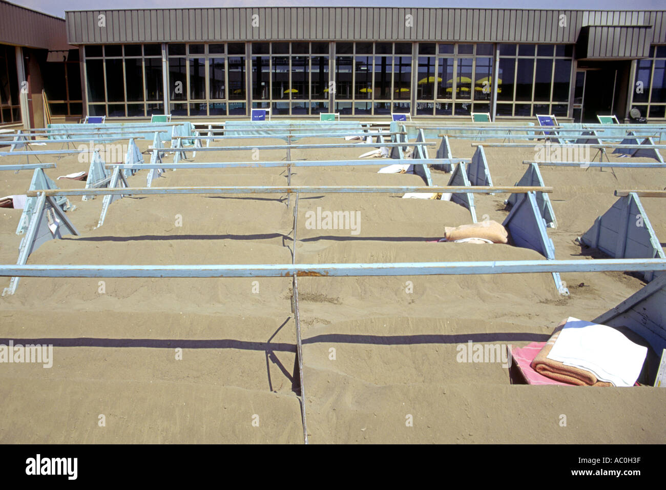
[[[341,139],[312,140],[324,141]],[[471,158],[470,143],[452,140],[454,156]],[[139,142],[141,149],[148,144]],[[365,151],[294,150],[292,158],[356,159]],[[496,185],[513,185],[525,171],[523,159],[535,157],[529,148],[486,148],[486,156]],[[280,160],[285,151],[263,150],[259,157]],[[251,158],[250,151],[200,152],[194,161]],[[46,171],[53,179],[88,167],[75,156],[42,161],[57,163],[57,169]],[[19,163],[19,158],[0,163]],[[423,185],[416,175],[376,173],[390,163],[298,168],[292,185]],[[666,185],[666,169],[543,167],[541,173],[555,188],[551,201],[559,227],[548,231],[557,259],[594,256],[574,240],[617,199],[613,190]],[[0,195],[23,193],[31,176],[32,171],[3,172]],[[129,181],[143,187],[145,176],[141,171]],[[433,178],[446,185],[449,174],[433,171]],[[84,183],[61,180],[58,185]],[[153,185],[286,185],[286,174],[284,169],[178,170],[167,171]],[[476,196],[480,218],[487,214],[501,222],[507,215],[507,195]],[[68,216],[81,235],[45,243],[29,263],[292,260],[294,202],[288,207],[286,196],[128,197],[111,205],[99,229],[102,199],[71,201],[76,209]],[[643,205],[663,242],[663,203],[645,198]],[[306,213],[317,207],[360,211],[360,233],[307,229]],[[0,214],[0,262],[15,263],[21,211]],[[444,235],[445,225],[468,222],[466,209],[446,201],[304,196],[298,204],[296,261],[542,258],[510,245],[430,243]],[[545,341],[561,319],[591,320],[644,284],[623,273],[570,273],[562,279],[569,297],[557,294],[549,274],[300,278],[310,442],[666,442],[664,390],[512,385],[501,363],[456,360],[458,345],[470,340],[514,346]],[[53,344],[54,361],[51,369],[0,365],[0,442],[302,443],[290,295],[286,278],[21,279],[17,293],[0,300],[0,343]],[[176,349],[182,349],[182,359],[176,359]],[[105,427],[99,426],[100,415]]]

